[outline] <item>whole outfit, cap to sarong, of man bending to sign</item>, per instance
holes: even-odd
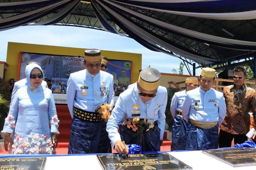
[[[150,72],[152,69],[145,68],[144,72]],[[142,73],[143,70],[140,74]],[[140,83],[141,81],[139,78],[140,86],[146,89],[143,83]],[[159,85],[159,81],[157,83]],[[119,96],[107,123],[108,137],[113,147],[116,141],[122,140],[127,144],[142,145],[144,152],[160,151],[160,140],[164,135],[167,90],[165,87],[158,86],[157,83],[156,96],[148,102],[143,102],[140,98],[136,83]],[[120,134],[118,133],[118,124],[122,124]]]

